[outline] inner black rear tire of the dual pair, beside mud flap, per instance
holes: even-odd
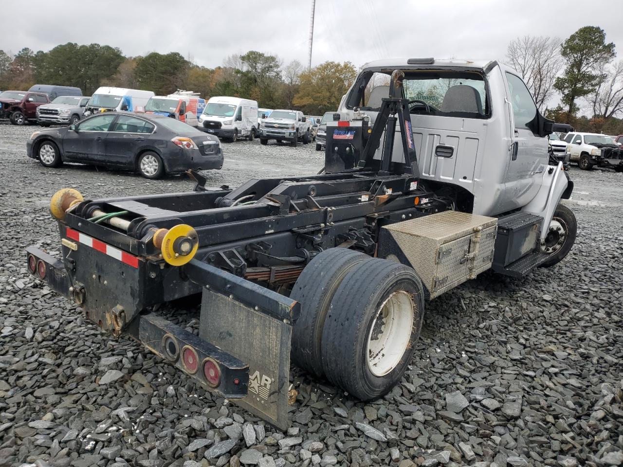
[[[318,377],[322,368],[321,339],[331,299],[346,273],[368,255],[346,248],[329,248],[316,255],[298,276],[290,298],[301,304],[292,327],[292,361]]]

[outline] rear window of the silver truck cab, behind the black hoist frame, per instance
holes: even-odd
[[[485,78],[477,71],[404,70],[404,73],[402,87],[404,97],[410,101],[411,113],[465,118],[490,115]],[[389,97],[389,80],[390,75],[384,72],[364,75],[363,92],[356,88],[348,98],[348,106],[378,111],[383,98]]]

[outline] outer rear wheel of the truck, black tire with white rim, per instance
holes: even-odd
[[[416,271],[379,258],[358,263],[333,296],[322,334],[326,377],[361,400],[401,380],[424,316]]]

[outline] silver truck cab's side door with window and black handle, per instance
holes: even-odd
[[[539,191],[548,165],[548,140],[530,129],[537,115],[535,101],[520,77],[509,72],[505,75],[511,145],[500,212],[528,204]]]

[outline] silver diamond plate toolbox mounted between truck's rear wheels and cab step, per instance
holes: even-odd
[[[491,267],[497,219],[444,211],[385,225],[378,256],[411,265],[430,298]]]

